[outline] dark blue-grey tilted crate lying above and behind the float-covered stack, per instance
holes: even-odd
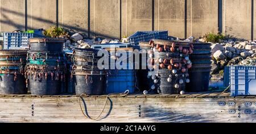
[[[139,45],[139,41],[151,39],[168,39],[168,31],[138,31],[129,37],[129,43]]]

